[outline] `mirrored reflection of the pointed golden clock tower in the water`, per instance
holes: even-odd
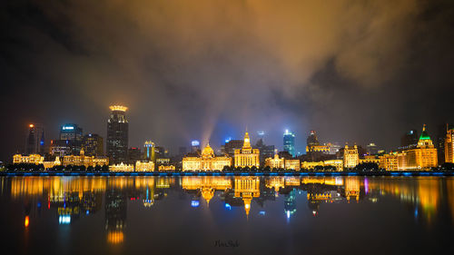
[[[260,197],[260,179],[252,176],[235,177],[235,197],[242,198],[244,211],[249,216],[252,198]]]

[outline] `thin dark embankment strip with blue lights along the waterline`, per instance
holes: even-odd
[[[0,172],[0,176],[454,176],[454,172]]]

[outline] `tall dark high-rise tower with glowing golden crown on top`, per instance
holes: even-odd
[[[106,149],[109,162],[126,162],[128,157],[128,120],[125,106],[112,105],[109,120],[107,120]]]

